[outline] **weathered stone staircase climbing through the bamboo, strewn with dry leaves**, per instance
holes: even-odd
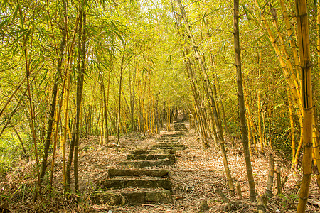
[[[173,202],[168,168],[176,162],[175,151],[185,148],[180,140],[188,132],[185,124],[174,123],[173,128],[173,133],[156,138],[151,148],[130,151],[120,168],[109,169],[109,177],[92,193],[92,202],[110,206]]]

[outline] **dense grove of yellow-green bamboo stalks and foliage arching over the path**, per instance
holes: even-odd
[[[242,138],[252,200],[252,154],[284,151],[299,178],[304,151],[303,175],[312,165],[320,185],[320,6],[303,4],[2,1],[0,139],[34,160],[34,199],[52,184],[57,155],[65,191],[74,170],[78,192],[80,138],[99,136],[108,148],[110,136],[169,129],[178,111],[203,148],[220,149],[231,194],[233,138]]]

